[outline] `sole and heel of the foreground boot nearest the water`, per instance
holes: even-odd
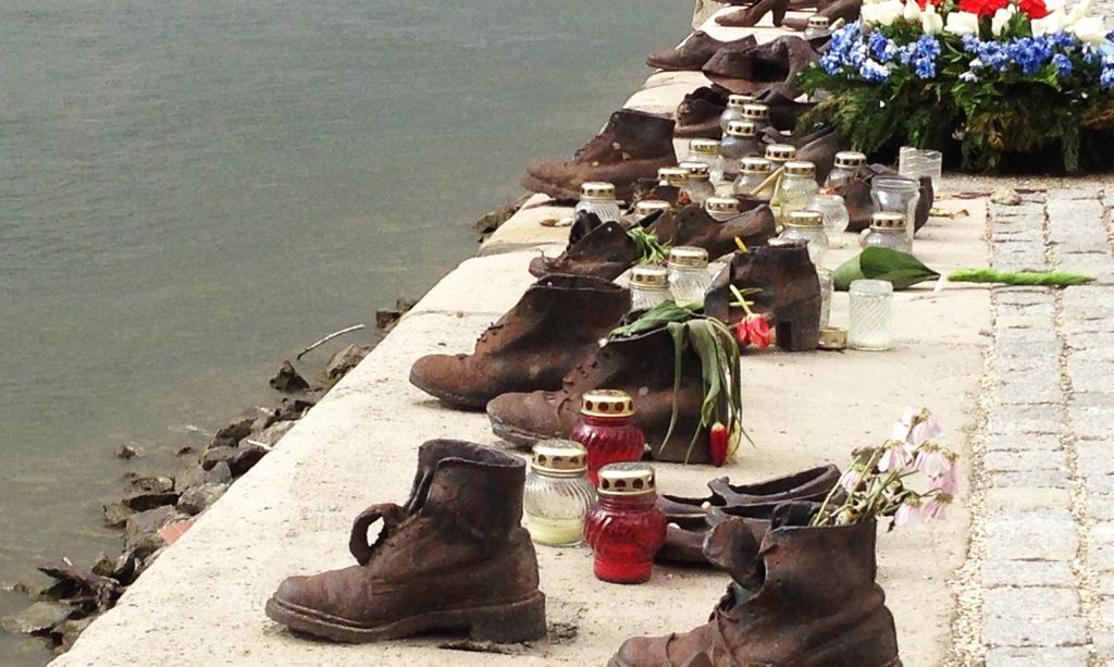
[[[427,630],[468,630],[476,641],[517,644],[546,636],[546,596],[538,591],[509,605],[427,611],[393,622],[365,626],[271,598],[267,617],[292,630],[346,644],[401,639]]]

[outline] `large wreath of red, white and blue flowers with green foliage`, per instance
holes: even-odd
[[[868,154],[959,154],[969,169],[1110,164],[1114,43],[1088,7],[866,0],[802,72],[802,88],[822,98],[802,124],[832,125]]]

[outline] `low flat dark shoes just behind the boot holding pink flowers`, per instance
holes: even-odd
[[[665,546],[654,559],[709,565],[704,557],[704,538],[720,521],[742,518],[761,541],[774,507],[791,500],[823,502],[839,478],[838,468],[821,465],[754,484],[733,485],[722,477],[707,483],[712,493],[705,498],[662,494],[657,507],[665,513],[670,527]]]

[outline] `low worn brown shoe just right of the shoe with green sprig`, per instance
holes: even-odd
[[[741,200],[741,207],[750,206],[739,215],[720,222],[707,214],[703,205],[691,204],[682,208],[674,218],[672,236],[659,236],[671,245],[691,245],[707,251],[713,261],[739,249],[735,238],[742,239],[746,247],[765,245],[778,235],[778,223],[773,212],[765,204],[756,200]]]

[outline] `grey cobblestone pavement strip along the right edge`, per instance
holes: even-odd
[[[1097,189],[990,205],[996,268],[1097,283],[994,290],[994,344],[973,463],[961,664],[1114,665],[1114,254]],[[980,636],[980,641],[971,641]]]

